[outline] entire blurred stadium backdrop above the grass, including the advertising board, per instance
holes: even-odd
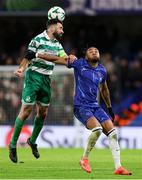
[[[13,75],[31,38],[46,28],[47,11],[65,9],[62,44],[68,54],[99,48],[108,70],[116,126],[122,148],[142,148],[142,2],[139,0],[3,0],[0,1],[0,146],[7,146],[21,105],[22,79]],[[57,66],[52,102],[40,147],[83,147],[89,132],[73,117],[73,74]],[[100,99],[101,102],[101,99]],[[105,107],[104,107],[105,108]],[[25,146],[33,116],[19,139]],[[102,136],[97,147],[108,147]]]

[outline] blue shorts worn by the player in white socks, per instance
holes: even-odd
[[[75,117],[84,125],[86,125],[87,121],[91,117],[95,117],[100,124],[104,121],[110,119],[107,113],[100,107],[74,107],[74,115]]]

